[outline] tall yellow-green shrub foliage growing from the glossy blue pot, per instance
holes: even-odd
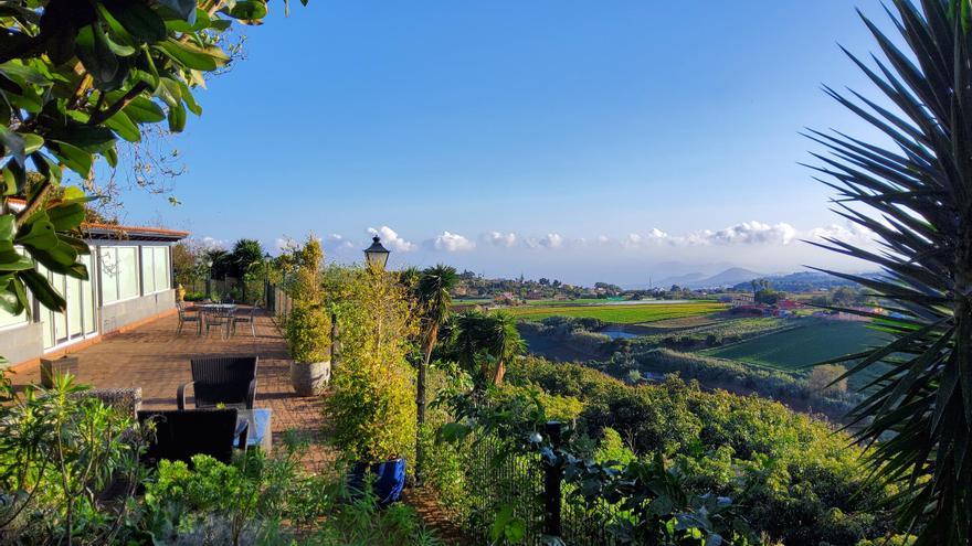
[[[334,441],[356,460],[408,458],[415,445],[409,340],[418,332],[410,298],[392,274],[346,269],[328,279],[340,343],[325,400]]]

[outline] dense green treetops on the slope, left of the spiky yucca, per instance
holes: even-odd
[[[536,357],[517,361],[509,382],[583,404],[573,451],[581,451],[580,439],[611,428],[640,459],[664,454],[690,491],[732,497],[757,532],[788,545],[854,544],[889,528],[883,505],[894,490],[866,479],[858,463],[864,451],[780,404],[705,393],[675,378],[632,387]]]

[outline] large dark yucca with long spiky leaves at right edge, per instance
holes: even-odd
[[[895,508],[918,545],[968,545],[972,522],[972,2],[892,0],[901,41],[867,17],[883,53],[847,54],[897,108],[856,92],[826,92],[895,147],[812,131],[821,181],[836,212],[875,234],[878,249],[821,244],[879,266],[879,279],[832,272],[877,292],[892,334],[881,347],[842,358],[849,374],[879,376],[849,415],[871,443],[875,479],[897,485]],[[896,43],[906,44],[905,51]],[[846,52],[846,50],[845,50]],[[886,104],[886,103],[885,103]],[[857,311],[852,311],[857,312]]]

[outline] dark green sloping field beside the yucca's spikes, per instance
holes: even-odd
[[[730,358],[786,372],[805,373],[805,366],[864,351],[886,340],[864,322],[801,319],[806,323],[792,330],[762,335],[701,354]],[[868,374],[870,375],[870,374]],[[866,377],[857,377],[858,383]]]

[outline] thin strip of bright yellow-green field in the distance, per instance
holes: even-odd
[[[711,301],[690,303],[640,303],[602,306],[524,306],[506,309],[515,317],[540,320],[547,317],[584,317],[615,324],[640,324],[723,311],[727,306]]]

